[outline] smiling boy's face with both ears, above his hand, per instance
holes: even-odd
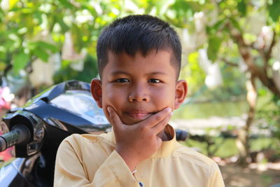
[[[124,124],[132,125],[167,106],[178,108],[186,96],[186,81],[176,80],[171,57],[167,50],[153,50],[146,57],[109,51],[102,82],[92,80],[92,95],[106,117],[112,106]]]

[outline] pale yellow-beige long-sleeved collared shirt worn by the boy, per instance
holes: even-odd
[[[173,128],[168,128],[173,138],[163,141],[151,158],[140,162],[134,174],[115,151],[113,131],[67,137],[57,151],[54,186],[224,186],[216,162],[179,144]]]

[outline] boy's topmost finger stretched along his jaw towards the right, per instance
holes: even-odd
[[[155,113],[152,116],[148,117],[146,120],[141,121],[139,125],[144,125],[144,126],[148,125],[148,127],[153,127],[157,125],[165,117],[169,116],[171,112],[172,109],[170,107],[167,107],[162,111],[159,111],[158,113]]]

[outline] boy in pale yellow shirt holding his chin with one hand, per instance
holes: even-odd
[[[64,139],[55,186],[224,186],[218,165],[177,143],[167,124],[187,94],[174,29],[149,15],[116,20],[99,36],[97,59],[92,97],[113,130]]]

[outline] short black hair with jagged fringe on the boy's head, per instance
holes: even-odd
[[[151,50],[172,50],[172,65],[177,78],[181,69],[181,42],[169,23],[151,15],[129,15],[112,22],[97,41],[99,75],[108,62],[108,51],[134,56],[140,51],[144,57]]]

